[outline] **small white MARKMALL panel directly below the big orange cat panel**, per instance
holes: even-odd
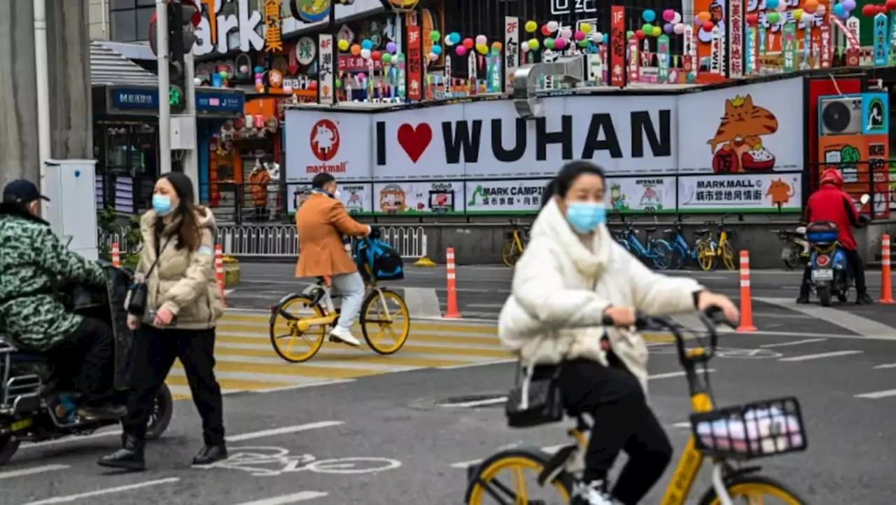
[[[799,212],[802,174],[743,174],[678,178],[680,213]]]

